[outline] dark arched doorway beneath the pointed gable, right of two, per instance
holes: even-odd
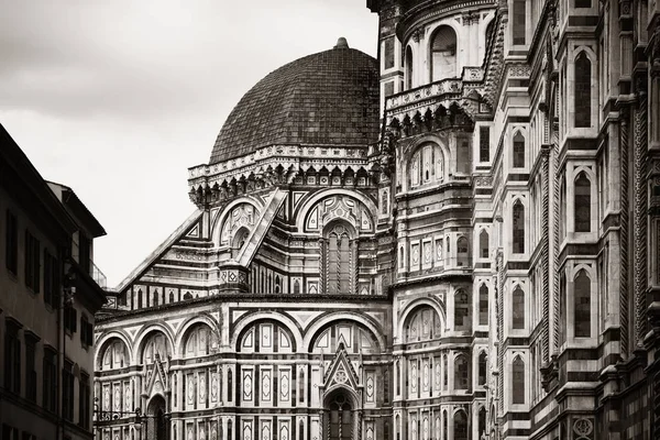
[[[323,440],[358,439],[360,417],[354,395],[344,388],[330,392],[323,399]]]

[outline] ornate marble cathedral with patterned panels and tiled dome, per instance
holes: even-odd
[[[367,7],[377,59],[275,70],[189,169],[99,438],[660,438],[660,6]]]

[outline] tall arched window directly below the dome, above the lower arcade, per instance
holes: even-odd
[[[326,293],[353,294],[353,253],[356,253],[355,243],[352,242],[354,231],[348,223],[338,221],[326,228],[324,235],[321,257],[326,271]]]

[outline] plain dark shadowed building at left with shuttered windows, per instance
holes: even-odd
[[[94,323],[106,297],[91,256],[106,232],[1,125],[0,212],[1,438],[92,439]]]

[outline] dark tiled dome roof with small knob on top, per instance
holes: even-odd
[[[224,122],[209,164],[267,145],[364,145],[378,140],[378,64],[334,48],[286,64],[258,81]]]

